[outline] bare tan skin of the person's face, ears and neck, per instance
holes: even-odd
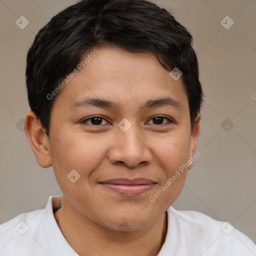
[[[54,216],[79,255],[157,255],[167,231],[165,211],[180,194],[186,169],[154,202],[149,196],[195,153],[200,115],[191,133],[182,79],[172,79],[152,53],[129,53],[110,45],[98,50],[57,94],[49,136],[32,111],[25,116],[25,133],[38,164],[53,167],[62,188],[62,206]],[[147,100],[166,96],[180,107],[140,109]],[[70,109],[84,97],[111,100],[118,108]],[[102,117],[99,124],[88,119],[94,115]],[[159,115],[165,118],[152,119]],[[123,118],[131,124],[126,131],[118,127]],[[74,183],[67,178],[72,169],[80,175]],[[127,196],[99,183],[138,177],[155,185]],[[120,230],[121,224],[129,230]]]

